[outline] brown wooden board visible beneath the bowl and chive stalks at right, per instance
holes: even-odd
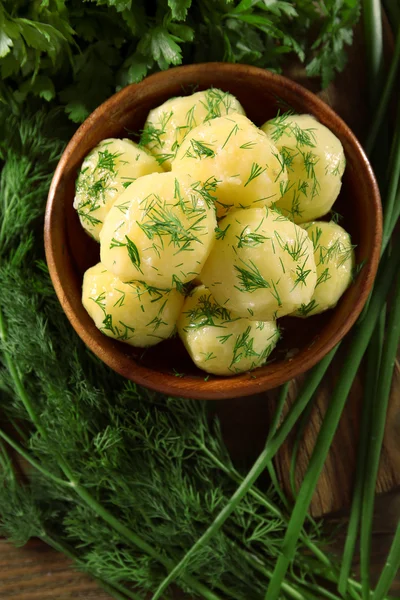
[[[385,29],[386,53],[390,57],[393,48],[393,38],[387,22],[385,22]],[[331,84],[328,89],[318,94],[350,125],[361,142],[369,126],[368,91],[364,60],[363,34],[361,27],[359,27],[356,31],[355,42],[345,71],[337,77],[334,84]],[[292,65],[285,74],[311,91],[318,91],[318,81],[314,82],[308,79],[301,65]],[[303,441],[298,451],[295,472],[297,489],[306,471],[326,408],[329,404],[329,398],[340,373],[342,361],[345,360],[345,345],[344,347],[342,345],[338,354],[339,356],[335,357],[323,384],[315,396],[312,411],[307,418]],[[304,377],[301,377],[292,382],[288,406],[296,397],[297,390],[301,387],[303,380]],[[311,513],[315,517],[339,511],[350,505],[357,458],[360,415],[362,411],[363,380],[364,369],[361,368],[354,381],[312,500]],[[379,402],[379,398],[376,398],[376,402]],[[275,390],[250,398],[219,400],[216,403],[215,410],[222,422],[222,431],[226,444],[237,463],[248,468],[261,451],[275,406]],[[393,490],[400,485],[399,434],[400,369],[397,363],[377,492]],[[289,473],[295,438],[296,435],[293,435],[287,440],[275,458],[275,468],[279,480],[289,497],[292,496]]]

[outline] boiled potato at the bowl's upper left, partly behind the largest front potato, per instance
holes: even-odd
[[[115,200],[138,177],[162,172],[154,156],[130,140],[107,139],[85,158],[76,181],[74,208],[95,239]]]

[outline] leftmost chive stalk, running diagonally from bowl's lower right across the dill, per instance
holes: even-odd
[[[214,521],[211,523],[211,525],[209,525],[209,527],[206,529],[203,535],[199,537],[199,539],[187,551],[185,556],[180,560],[180,562],[174,567],[174,569],[159,585],[155,594],[152,597],[152,600],[157,600],[158,598],[161,598],[161,594],[170,585],[170,583],[172,583],[172,581],[174,581],[178,577],[178,575],[183,571],[191,557],[194,554],[196,554],[196,552],[198,552],[200,548],[202,548],[205,544],[208,543],[208,541],[213,537],[213,535],[222,527],[227,518],[232,514],[232,512],[235,510],[241,499],[247,494],[247,492],[250,489],[252,489],[253,484],[261,475],[261,473],[265,470],[267,464],[275,456],[275,454],[285,441],[289,431],[295,424],[298,416],[303,412],[305,406],[307,406],[308,402],[314,395],[314,392],[318,387],[321,379],[325,375],[325,372],[328,366],[330,365],[337,348],[338,346],[331,350],[311,371],[311,374],[307,379],[307,382],[304,388],[302,389],[301,394],[293,403],[283,424],[279,427],[276,434],[265,446],[264,450],[261,452],[255,463],[253,464],[246,477],[244,477],[242,483],[239,485],[237,490],[231,496],[226,506],[224,506],[224,508],[218,513]]]

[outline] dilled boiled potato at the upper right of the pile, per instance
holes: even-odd
[[[278,115],[261,129],[280,150],[288,171],[279,209],[295,223],[325,215],[342,185],[346,160],[340,140],[310,115]]]

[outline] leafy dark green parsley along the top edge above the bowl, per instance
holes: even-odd
[[[325,87],[345,65],[359,2],[338,7],[328,0],[321,12],[287,0],[59,0],[26,6],[3,0],[0,10],[2,97],[13,105],[29,95],[57,97],[78,123],[116,89],[181,64],[183,57],[187,63],[227,60],[279,70],[285,53],[304,61],[307,52],[313,56],[309,74],[322,75]],[[227,101],[224,94],[209,93],[210,118],[220,116]]]

